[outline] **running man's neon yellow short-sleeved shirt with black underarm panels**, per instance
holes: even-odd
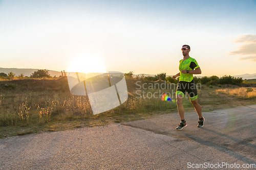
[[[180,60],[179,70],[180,70],[180,81],[191,82],[193,80],[193,74],[183,74],[181,70],[194,70],[198,68],[199,65],[194,58],[187,58],[186,60]]]

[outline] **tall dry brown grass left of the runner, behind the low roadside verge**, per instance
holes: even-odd
[[[126,82],[127,88],[133,94],[131,93],[127,101],[119,107],[102,114],[133,114],[176,107],[174,103],[162,101],[159,90],[140,91],[149,93],[150,96],[154,93],[157,98],[138,98],[138,92],[133,90],[137,86],[135,80]],[[4,81],[0,82],[0,87],[0,127],[43,125],[95,116],[87,96],[75,96],[70,93],[67,78]]]

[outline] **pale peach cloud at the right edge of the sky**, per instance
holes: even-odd
[[[242,55],[240,60],[249,60],[256,62],[256,35],[242,35],[234,43],[243,43],[238,46],[236,51],[230,52],[229,55]],[[245,56],[244,55],[250,55]]]

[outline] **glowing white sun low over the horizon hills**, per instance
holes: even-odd
[[[106,68],[100,53],[83,54],[72,59],[67,72],[106,73]]]

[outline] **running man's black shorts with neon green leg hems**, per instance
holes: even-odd
[[[197,86],[194,80],[191,82],[180,81],[178,83],[176,95],[181,94],[184,98],[186,93],[188,93],[190,101],[197,99]]]

